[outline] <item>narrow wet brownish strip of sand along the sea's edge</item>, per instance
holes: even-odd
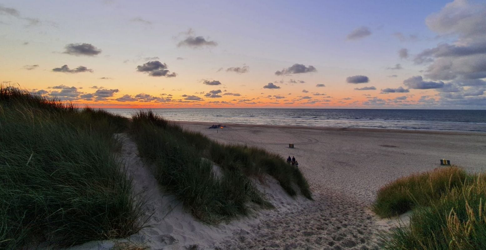
[[[170,122],[181,125],[214,125],[209,122],[190,122],[174,121]],[[367,127],[327,127],[327,126],[306,126],[306,125],[264,125],[264,124],[233,124],[225,123],[222,125],[232,127],[256,127],[256,128],[292,128],[292,129],[312,129],[324,131],[350,131],[350,132],[379,132],[379,133],[412,133],[412,134],[440,134],[440,135],[476,135],[486,136],[486,131],[451,131],[451,130],[414,130],[414,129],[393,129],[393,128],[367,128]]]

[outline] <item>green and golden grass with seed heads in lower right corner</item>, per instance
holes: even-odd
[[[382,236],[394,250],[486,249],[486,178],[452,166],[398,179],[378,194],[382,217],[412,209],[409,226]]]

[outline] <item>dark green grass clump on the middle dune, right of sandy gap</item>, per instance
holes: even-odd
[[[248,201],[272,206],[249,176],[258,178],[267,173],[289,195],[296,195],[297,188],[311,198],[300,171],[264,150],[216,143],[200,133],[184,131],[152,111],[139,111],[132,117],[130,134],[138,144],[140,156],[156,166],[159,183],[207,223],[247,214]],[[213,170],[211,161],[221,167],[221,176]]]

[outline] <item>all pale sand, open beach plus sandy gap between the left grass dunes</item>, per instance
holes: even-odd
[[[158,185],[152,167],[139,158],[125,134],[120,159],[134,192],[145,198],[149,228],[127,239],[88,242],[69,250],[109,250],[127,241],[155,250],[370,250],[377,235],[398,225],[370,211],[376,192],[389,181],[441,167],[440,159],[481,172],[486,133],[351,129],[271,125],[180,123],[221,143],[258,146],[286,159],[295,156],[308,179],[313,201],[291,197],[270,176],[254,180],[275,209],[256,209],[228,223],[209,226],[195,219]],[[289,148],[289,143],[295,145]],[[218,166],[213,165],[215,174]],[[407,214],[399,219],[407,220]]]

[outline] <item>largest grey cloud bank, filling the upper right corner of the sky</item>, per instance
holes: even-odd
[[[431,63],[426,73],[432,80],[482,79],[486,77],[486,4],[455,0],[429,15],[426,24],[439,36],[457,37],[440,43],[414,58],[416,64]]]

